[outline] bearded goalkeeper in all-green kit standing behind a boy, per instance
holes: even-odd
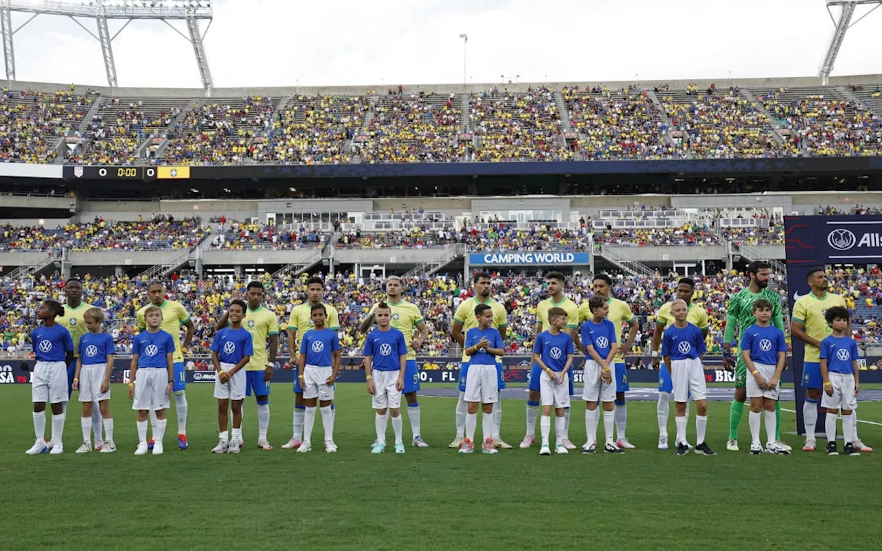
[[[781,297],[768,288],[771,276],[772,269],[769,264],[761,260],[747,264],[747,277],[750,279],[750,283],[729,297],[726,308],[726,331],[722,339],[723,366],[726,369],[732,369],[732,366],[735,366],[735,398],[732,399],[732,406],[729,407],[729,442],[726,443],[726,449],[729,451],[738,450],[738,425],[741,423],[741,415],[744,413],[744,400],[747,399],[747,366],[744,364],[742,354],[738,354],[737,361],[732,354],[732,339],[737,336],[738,342],[741,342],[744,330],[756,321],[753,317],[753,303],[759,299],[766,299],[772,303],[772,324],[784,331]],[[775,405],[775,416],[778,427],[775,441],[781,447],[790,450],[787,443],[781,441],[780,404]]]

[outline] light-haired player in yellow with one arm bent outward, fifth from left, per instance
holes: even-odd
[[[403,290],[404,285],[400,277],[392,276],[386,279],[385,303],[392,309],[392,327],[404,333],[404,338],[407,340],[407,362],[402,392],[407,398],[407,417],[410,419],[410,428],[414,433],[412,443],[417,448],[428,448],[429,444],[423,442],[420,435],[420,403],[416,398],[416,392],[420,390],[420,372],[416,368],[416,351],[422,349],[422,344],[429,338],[429,328],[422,320],[420,309],[401,297]],[[377,309],[376,304],[371,307],[368,316],[358,326],[358,331],[367,333],[370,330],[370,325],[374,323],[375,309]]]

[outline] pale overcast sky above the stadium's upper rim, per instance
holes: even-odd
[[[824,0],[215,0],[206,50],[215,87],[461,83],[461,33],[474,83],[737,79],[817,74],[832,31]],[[882,73],[880,34],[882,10],[848,32],[833,75]],[[71,19],[38,17],[15,52],[19,80],[107,85],[98,41]],[[120,86],[201,86],[161,22],[131,23],[114,53]]]

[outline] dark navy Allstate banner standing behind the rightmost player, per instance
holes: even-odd
[[[882,216],[785,216],[784,228],[791,312],[796,301],[811,292],[806,282],[811,270],[824,269],[826,264],[882,264]],[[805,434],[804,342],[793,339],[792,349],[796,430],[802,435]],[[820,411],[816,432],[824,432],[824,417],[823,411]]]

